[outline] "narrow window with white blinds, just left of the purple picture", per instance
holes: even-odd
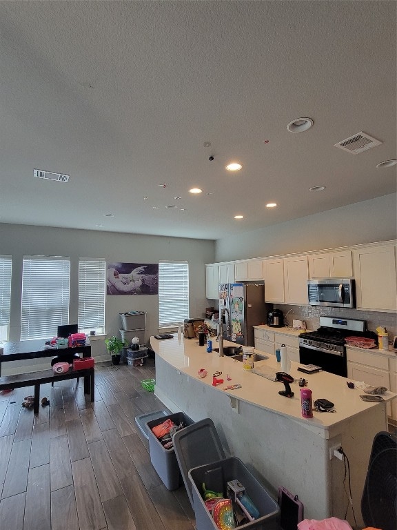
[[[105,259],[79,259],[79,331],[105,333]]]

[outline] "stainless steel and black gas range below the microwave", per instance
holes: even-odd
[[[299,335],[299,362],[316,364],[330,373],[347,377],[345,337],[376,337],[366,331],[365,320],[320,317],[317,331]]]

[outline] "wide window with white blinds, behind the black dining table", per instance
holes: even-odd
[[[23,256],[21,340],[57,335],[69,324],[70,259]]]

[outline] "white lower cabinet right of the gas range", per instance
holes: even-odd
[[[363,351],[361,349],[346,349],[347,355],[347,377],[353,381],[363,381],[372,386],[385,386],[391,392],[395,392],[390,386],[391,377],[389,369],[389,357],[382,353]],[[387,415],[397,420],[396,408],[387,404]]]

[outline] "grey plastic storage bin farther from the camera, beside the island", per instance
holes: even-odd
[[[165,487],[172,491],[178,489],[181,484],[181,471],[179,471],[174,448],[164,449],[159,440],[152,433],[152,428],[154,426],[160,425],[168,419],[172,420],[176,425],[179,425],[181,422],[185,425],[192,425],[193,420],[183,412],[176,412],[158,418],[157,420],[152,420],[146,424],[147,434],[149,435],[150,461]],[[183,429],[179,432],[182,431]]]

